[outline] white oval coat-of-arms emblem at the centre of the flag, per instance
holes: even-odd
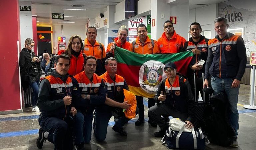
[[[163,75],[164,64],[160,61],[150,60],[145,62],[139,71],[139,83],[143,91],[155,94],[159,83],[166,78]]]

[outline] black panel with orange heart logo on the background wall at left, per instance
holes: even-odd
[[[46,50],[49,54],[52,52],[52,38],[51,33],[37,33],[37,51],[38,56],[43,54]]]

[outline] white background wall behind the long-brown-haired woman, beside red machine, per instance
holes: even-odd
[[[53,25],[53,47],[58,49],[58,37],[61,37],[61,25]],[[73,35],[79,35],[82,40],[86,39],[86,25],[63,25],[63,36],[66,37],[66,46],[68,40]]]

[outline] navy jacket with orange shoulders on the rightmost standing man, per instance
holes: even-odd
[[[220,39],[215,36],[208,42],[208,57],[205,66],[205,79],[209,76],[232,78],[241,81],[247,62],[246,48],[242,37],[227,33]]]

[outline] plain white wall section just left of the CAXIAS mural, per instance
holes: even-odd
[[[211,38],[214,38],[216,33],[214,30],[214,19],[218,17],[218,4],[189,10],[189,25],[193,22],[198,22],[202,30],[211,30]],[[188,31],[189,31],[188,25]]]

